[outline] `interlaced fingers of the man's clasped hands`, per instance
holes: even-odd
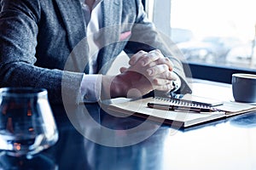
[[[140,51],[131,56],[129,68],[122,67],[120,71],[135,71],[141,75],[138,80],[148,80],[151,88],[160,91],[171,91],[172,82],[177,79],[176,74],[172,71],[172,61],[165,58],[160,50],[153,50],[149,53]],[[143,82],[143,81],[142,81]]]

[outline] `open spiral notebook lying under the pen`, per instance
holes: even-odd
[[[223,105],[209,106],[192,104],[195,107],[206,107],[210,109],[218,109],[212,112],[189,112],[189,111],[169,111],[149,108],[148,103],[161,105],[188,105],[186,102],[177,102],[168,98],[146,98],[126,101],[123,103],[110,104],[108,109],[133,116],[141,116],[158,122],[165,122],[178,127],[191,127],[203,122],[209,122],[226,116],[234,116],[237,114],[256,111],[256,106],[240,104],[235,102],[224,102]],[[189,103],[191,106],[191,103]]]

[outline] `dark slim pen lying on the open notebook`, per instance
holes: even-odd
[[[163,105],[163,104],[155,104],[155,103],[148,103],[149,108],[160,109],[165,111],[195,111],[195,112],[212,112],[218,111],[212,107],[191,107],[191,106],[183,106],[183,105]]]

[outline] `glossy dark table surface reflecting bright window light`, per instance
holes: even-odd
[[[212,97],[230,99],[230,85],[207,83],[195,82],[195,94],[211,91]],[[59,140],[38,155],[41,161],[35,156],[30,167],[41,162],[41,168],[72,170],[256,169],[256,112],[177,129],[107,114],[97,104],[86,105],[87,116],[73,107],[52,109]]]

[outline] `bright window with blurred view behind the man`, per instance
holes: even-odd
[[[145,3],[148,18],[177,44],[192,76],[218,82],[230,82],[235,72],[256,74],[255,6],[253,0]]]

